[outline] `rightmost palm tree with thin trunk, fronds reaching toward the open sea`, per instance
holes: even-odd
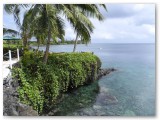
[[[81,38],[84,43],[89,43],[91,40],[90,34],[93,32],[93,24],[88,17],[96,18],[99,21],[104,20],[99,7],[103,7],[105,10],[106,6],[104,4],[56,4],[55,7],[62,11],[63,15],[72,25],[74,32],[76,33],[76,40],[74,43],[73,52],[76,49],[77,40]]]

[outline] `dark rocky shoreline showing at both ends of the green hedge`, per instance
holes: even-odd
[[[99,69],[97,79],[116,71],[114,68]],[[11,82],[9,82],[11,81]],[[19,84],[8,76],[3,80],[3,115],[4,116],[38,116],[37,111],[31,106],[22,104],[19,101],[17,88]]]

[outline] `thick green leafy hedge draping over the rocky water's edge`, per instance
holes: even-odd
[[[21,68],[13,69],[20,83],[20,100],[39,113],[56,104],[62,93],[95,81],[101,66],[91,53],[52,53],[47,64],[42,59],[40,52],[25,52]]]

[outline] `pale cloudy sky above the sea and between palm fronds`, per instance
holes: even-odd
[[[91,43],[155,43],[155,4],[106,4],[107,12],[100,9],[105,20],[91,19],[95,29]],[[25,10],[20,18],[23,19]],[[66,39],[76,34],[66,20]],[[13,15],[3,11],[3,26],[18,30]]]

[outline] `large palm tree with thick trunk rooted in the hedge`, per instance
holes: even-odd
[[[47,63],[51,39],[64,37],[64,21],[59,16],[59,10],[49,4],[36,4],[32,9],[32,18],[39,17],[39,27],[47,31],[47,43],[43,62]]]

